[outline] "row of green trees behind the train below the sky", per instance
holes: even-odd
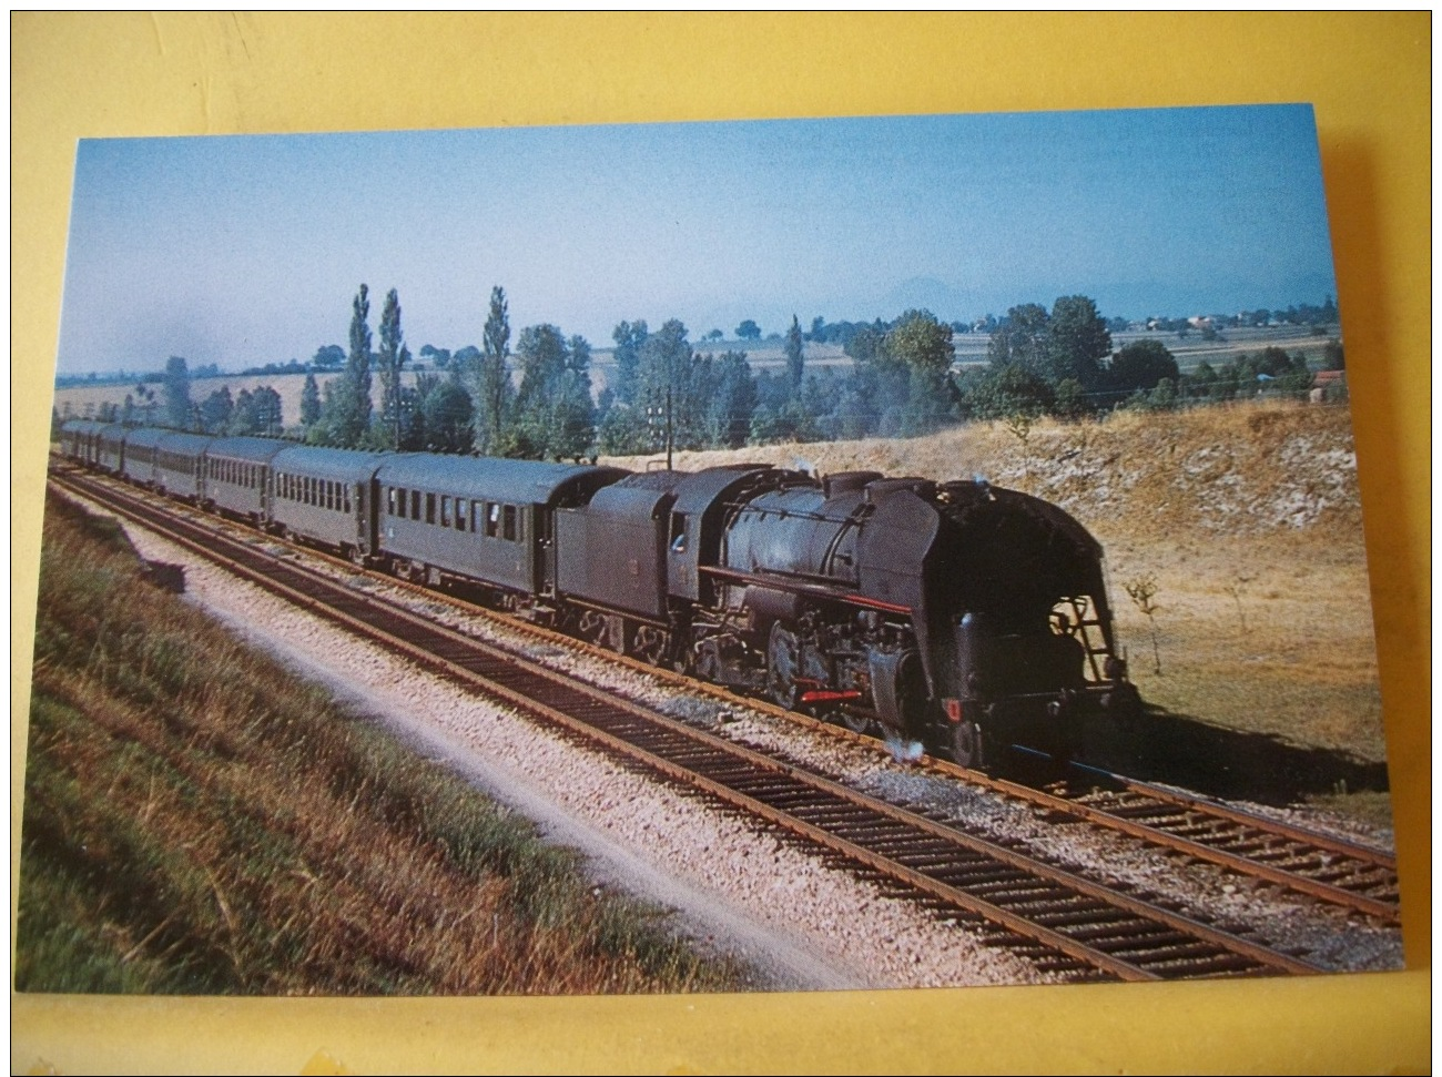
[[[1335,314],[1331,298],[1304,307],[1306,316]],[[1113,350],[1115,320],[1103,319],[1086,296],[1063,296],[1050,310],[1024,303],[991,323],[986,363],[957,371],[956,326],[927,310],[871,323],[828,324],[818,317],[810,332],[793,314],[780,337],[782,369],[753,372],[746,352],[702,349],[679,320],[656,330],[643,320],[620,322],[613,371],[596,394],[591,346],[583,336],[554,324],[528,326],[512,349],[499,285],[490,293],[479,347],[425,345],[420,356],[428,366],[415,366],[397,290],[386,294],[372,336],[371,293],[360,284],[350,304],[349,347],[324,345],[311,359],[298,430],[314,446],[571,460],[668,446],[916,435],[968,420],[1070,420],[1116,407],[1299,392],[1312,381],[1305,356],[1279,347],[1239,355],[1220,368],[1204,362],[1185,375],[1155,337]],[[737,334],[758,339],[760,329],[747,320]],[[852,365],[808,371],[808,342],[842,337]],[[720,330],[704,336],[708,343],[720,339]],[[1341,369],[1341,343],[1328,342],[1324,359]],[[316,371],[336,375],[322,388]],[[172,356],[160,388],[157,398],[143,381],[121,408],[111,405],[99,418],[163,421],[211,434],[296,433],[284,425],[280,394],[265,385],[234,398],[222,388],[195,402],[186,360]]]

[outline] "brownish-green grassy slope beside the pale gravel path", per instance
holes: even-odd
[[[572,851],[143,582],[48,506],[16,986],[62,992],[725,989]]]

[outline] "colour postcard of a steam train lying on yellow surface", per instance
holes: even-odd
[[[79,144],[16,986],[1402,967],[1305,105]]]

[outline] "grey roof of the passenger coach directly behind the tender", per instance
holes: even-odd
[[[386,457],[376,479],[389,486],[420,487],[461,497],[552,505],[564,496],[594,490],[626,474],[619,467],[415,453]]]

